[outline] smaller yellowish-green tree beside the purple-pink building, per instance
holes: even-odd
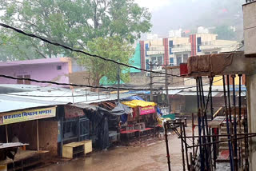
[[[129,64],[130,58],[132,54],[134,54],[134,48],[130,46],[130,43],[119,36],[94,38],[93,41],[87,43],[87,47],[91,54],[97,54],[126,64]],[[86,69],[90,73],[90,78],[93,80],[93,82],[90,83],[91,85],[99,85],[100,79],[104,76],[108,79],[108,82],[116,82],[118,65],[113,62],[102,61],[99,58],[93,58],[83,54],[77,55],[78,63],[82,66],[86,66]],[[119,67],[120,70],[122,70],[120,73],[122,82],[129,81],[130,74],[127,67]]]

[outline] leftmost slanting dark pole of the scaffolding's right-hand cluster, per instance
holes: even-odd
[[[225,83],[225,76],[222,76],[223,80],[223,91],[224,91],[224,101],[225,101],[225,109],[226,109],[226,133],[230,135],[230,125],[229,125],[229,119],[228,119],[228,113],[227,113],[227,105],[226,105],[226,83]],[[230,136],[228,136],[228,140],[230,140]],[[229,141],[229,153],[230,153],[230,170],[234,170],[234,161],[233,161],[233,153],[232,153],[232,146]]]

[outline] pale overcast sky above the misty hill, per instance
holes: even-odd
[[[149,8],[153,24],[152,33],[160,37],[169,30],[192,30],[198,26],[242,24],[242,3],[245,0],[135,0],[139,6]],[[238,19],[235,15],[239,15]],[[238,22],[236,22],[238,21]]]

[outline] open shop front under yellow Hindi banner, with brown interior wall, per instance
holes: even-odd
[[[47,119],[55,116],[56,106],[0,113],[0,141],[26,144],[18,148],[14,156],[15,167],[25,169],[32,164],[38,164],[39,157],[46,153],[54,153],[51,150],[54,149],[55,135],[57,142],[58,124]],[[13,161],[8,158],[2,163],[8,165],[8,169],[13,167]]]

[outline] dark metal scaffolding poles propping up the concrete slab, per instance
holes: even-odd
[[[216,162],[218,158],[219,145],[223,142],[228,143],[228,153],[230,170],[249,170],[249,143],[248,138],[256,137],[256,133],[248,133],[247,113],[244,109],[242,113],[242,75],[239,74],[238,85],[238,105],[236,95],[235,78],[236,75],[223,75],[223,97],[224,106],[222,113],[222,122],[220,126],[226,125],[226,133],[220,134],[220,127],[214,128],[209,125],[218,117],[218,113],[213,113],[213,99],[212,99],[212,85],[213,77],[210,77],[210,87],[207,96],[204,94],[202,85],[202,78],[196,78],[197,83],[197,106],[198,106],[198,124],[194,124],[194,113],[192,113],[192,136],[186,136],[185,123],[181,120],[166,121],[164,128],[166,133],[166,150],[170,170],[170,153],[168,148],[167,129],[174,130],[181,139],[182,147],[182,170],[190,171],[214,171],[216,169]],[[231,85],[230,85],[231,79]],[[230,89],[231,88],[231,89]],[[232,93],[230,93],[230,90]],[[205,97],[207,97],[205,99]],[[232,101],[232,105],[231,105]],[[207,109],[210,104],[210,112],[207,114]],[[218,110],[220,111],[220,110]],[[209,122],[210,121],[210,122]],[[194,135],[194,127],[198,126],[198,135]],[[179,132],[178,128],[179,127]],[[243,129],[243,130],[242,130]],[[220,138],[225,137],[224,140]],[[192,145],[188,145],[187,140],[192,141]],[[196,143],[197,141],[197,143]],[[190,149],[190,150],[189,150]],[[198,151],[199,149],[199,151]],[[190,156],[190,158],[189,158]]]

